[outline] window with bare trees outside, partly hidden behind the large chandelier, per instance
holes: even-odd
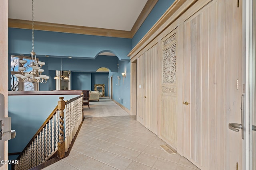
[[[19,82],[18,78],[14,76],[14,74],[20,74],[18,70],[20,64],[20,60],[26,60],[27,63],[24,66],[30,64],[30,57],[27,56],[11,56],[11,90],[12,91],[36,91],[38,90],[38,82]],[[38,60],[38,59],[37,59]],[[33,61],[32,61],[33,62]],[[25,72],[32,71],[32,68],[29,67],[25,70]]]

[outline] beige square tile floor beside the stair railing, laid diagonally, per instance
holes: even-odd
[[[44,170],[199,170],[164,144],[136,116],[86,117],[70,155]]]

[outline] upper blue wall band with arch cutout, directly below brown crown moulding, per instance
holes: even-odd
[[[30,29],[9,28],[9,54],[29,54],[32,49]],[[129,60],[132,39],[34,30],[36,55],[70,56],[94,59],[99,53],[114,53]]]

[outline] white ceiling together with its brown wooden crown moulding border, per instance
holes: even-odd
[[[34,29],[132,38],[158,0],[34,0]],[[9,27],[31,29],[32,0],[9,0]]]

